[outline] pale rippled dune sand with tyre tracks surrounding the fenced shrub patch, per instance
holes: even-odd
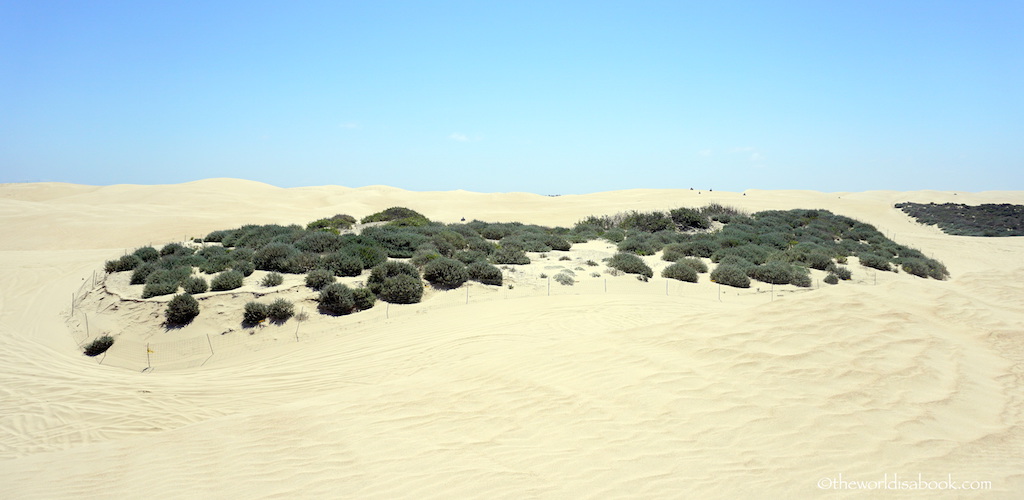
[[[1024,193],[0,185],[0,497],[852,498],[819,485],[920,473],[991,483],[930,497],[1020,498],[1024,238],[946,236],[901,201]],[[857,283],[773,301],[720,302],[707,275],[692,297],[428,297],[387,320],[313,312],[302,341],[146,373],[82,356],[67,323],[104,260],[213,230],[395,205],[571,225],[711,202],[857,218],[952,278],[873,284],[851,265]]]

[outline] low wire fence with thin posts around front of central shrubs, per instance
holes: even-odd
[[[861,273],[861,275],[860,279],[854,280],[853,283],[868,285],[878,283],[876,275],[870,273]],[[89,293],[103,289],[104,280],[104,273],[93,273],[92,277],[86,279],[82,286],[72,295],[67,323],[72,337],[80,347],[84,347],[87,342],[99,337],[98,332],[93,331],[96,329],[89,326],[90,314],[95,317],[98,311],[86,310],[89,307],[82,304]],[[660,295],[680,300],[746,301],[760,303],[761,301],[776,300],[788,294],[808,292],[821,287],[821,283],[815,280],[815,283],[810,288],[796,288],[793,286],[776,287],[754,282],[749,289],[738,289],[709,284],[706,280],[708,280],[707,275],[702,277],[702,283],[700,284],[667,279],[652,279],[644,282],[636,280],[632,276],[626,276],[583,279],[572,285],[563,285],[548,278],[546,280],[532,280],[529,283],[519,283],[512,287],[507,285],[484,286],[478,283],[470,283],[454,290],[440,291],[428,288],[423,301],[420,303],[390,304],[378,300],[375,306],[370,309],[337,318],[335,321],[339,328],[317,328],[303,332],[303,324],[305,322],[302,321],[302,318],[318,314],[314,310],[305,309],[298,311],[301,314],[284,324],[262,324],[253,328],[239,329],[229,334],[211,332],[199,336],[175,340],[161,340],[159,342],[117,338],[114,344],[105,352],[96,357],[95,360],[104,366],[120,367],[140,372],[198,368],[205,366],[214,357],[223,359],[246,352],[259,351],[285,343],[317,341],[327,336],[336,336],[339,331],[344,331],[347,327],[356,325],[381,323],[391,319],[429,314],[430,310],[439,308],[528,297]],[[237,295],[247,295],[247,293],[237,290],[232,292]],[[252,295],[253,298],[259,296],[256,293],[249,293],[248,295]],[[202,307],[204,297],[198,296],[197,298],[200,300]],[[112,333],[116,334],[117,332]]]

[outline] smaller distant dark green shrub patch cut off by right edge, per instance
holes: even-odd
[[[947,235],[956,236],[1024,236],[1024,205],[961,203],[897,203],[923,224],[936,224]]]

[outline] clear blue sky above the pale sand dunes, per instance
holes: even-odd
[[[1024,2],[0,0],[0,182],[1024,190]]]

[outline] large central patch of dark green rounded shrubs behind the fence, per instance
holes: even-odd
[[[256,269],[265,272],[252,278],[262,287],[281,285],[285,275],[304,275],[303,283],[319,291],[323,312],[347,315],[373,307],[377,299],[419,302],[424,281],[435,289],[457,288],[467,281],[500,286],[503,274],[496,265],[526,264],[527,252],[565,251],[596,239],[617,247],[606,261],[608,267],[644,281],[653,272],[641,257],[659,252],[662,259],[673,262],[663,270],[664,278],[696,282],[709,270],[702,259],[710,259],[717,264],[712,281],[740,288],[750,287],[751,280],[809,287],[811,268],[827,272],[826,283],[849,280],[852,273],[842,265],[848,257],[881,270],[902,269],[938,280],[948,276],[941,262],[921,251],[887,239],[870,224],[826,210],[748,214],[714,204],[589,216],[572,227],[546,227],[480,220],[444,224],[392,207],[364,217],[361,222],[370,225],[359,234],[346,232],[355,220],[339,214],[305,227],[250,224],[215,231],[189,246],[139,248],[108,261],[105,269],[131,273],[132,284],[144,285],[145,298],[183,289],[167,311],[168,324],[174,326],[198,316],[193,294],[240,288]],[[366,288],[335,283],[336,277],[368,272]],[[293,314],[290,302],[250,302],[243,319],[249,325],[265,319],[284,322]]]

